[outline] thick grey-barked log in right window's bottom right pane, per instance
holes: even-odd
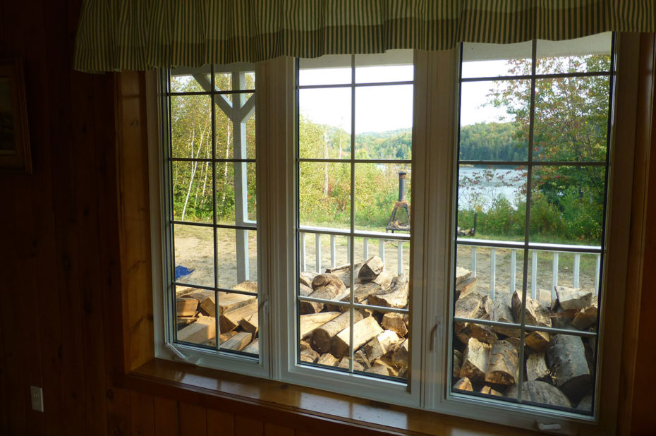
[[[556,386],[574,403],[590,393],[593,377],[580,337],[554,334],[547,349],[547,363]]]

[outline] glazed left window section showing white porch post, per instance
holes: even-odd
[[[177,68],[164,80],[171,342],[257,358],[255,73]]]

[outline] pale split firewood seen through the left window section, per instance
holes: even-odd
[[[244,281],[233,290],[257,293],[257,282]],[[219,346],[224,350],[258,354],[257,297],[219,292]],[[214,291],[184,288],[176,292],[178,341],[216,346],[217,302]]]

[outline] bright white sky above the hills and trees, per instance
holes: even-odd
[[[502,75],[505,61],[463,63],[463,77]],[[413,66],[357,67],[356,83],[412,80]],[[351,83],[351,68],[301,69],[299,85]],[[484,106],[492,82],[464,83],[461,125],[510,121],[504,109]],[[356,134],[391,131],[412,126],[412,85],[356,87]],[[351,88],[300,90],[300,112],[315,123],[340,126],[351,132]]]

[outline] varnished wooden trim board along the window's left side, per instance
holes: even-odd
[[[144,73],[116,74],[123,373],[154,357],[145,95]]]

